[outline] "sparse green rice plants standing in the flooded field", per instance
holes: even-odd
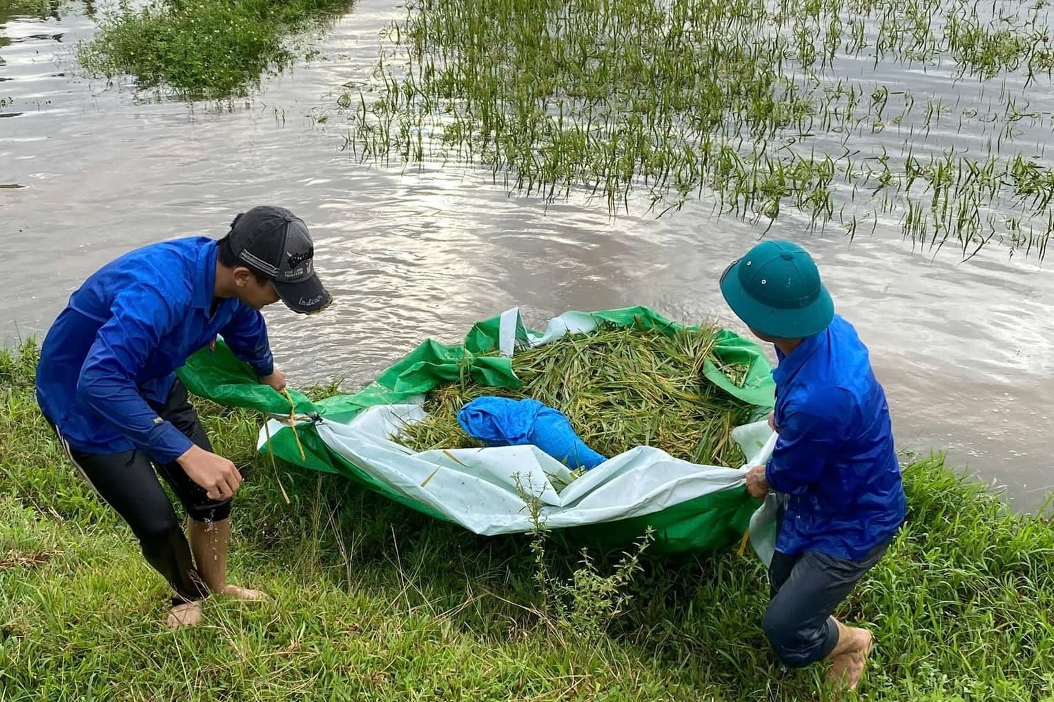
[[[1054,232],[1045,3],[414,0],[348,84],[362,159],[454,159],[613,215],[690,199],[963,255]],[[958,119],[958,124],[952,124]],[[1017,147],[1027,135],[1035,148]],[[980,142],[979,144],[977,142]],[[643,194],[636,200],[638,194]]]

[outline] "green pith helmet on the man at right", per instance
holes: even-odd
[[[762,241],[721,276],[721,294],[750,329],[773,338],[805,338],[835,316],[813,257],[790,241]]]

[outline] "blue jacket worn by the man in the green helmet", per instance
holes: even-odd
[[[787,495],[776,548],[862,559],[906,511],[890,408],[867,348],[835,315],[786,356],[776,353],[779,441],[765,480]]]

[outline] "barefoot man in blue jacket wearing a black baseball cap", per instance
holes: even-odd
[[[231,499],[241,475],[213,453],[175,371],[222,336],[260,383],[284,389],[260,310],[281,299],[313,314],[330,304],[313,255],[301,219],[253,208],[222,239],[162,241],[104,266],[73,293],[41,346],[40,409],[175,590],[173,628],[197,623],[210,592],[260,597],[227,582]],[[189,544],[157,474],[187,510]]]

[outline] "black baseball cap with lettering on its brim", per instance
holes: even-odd
[[[315,273],[308,226],[286,208],[262,204],[242,212],[227,237],[234,255],[268,276],[289,309],[314,314],[333,301]]]

